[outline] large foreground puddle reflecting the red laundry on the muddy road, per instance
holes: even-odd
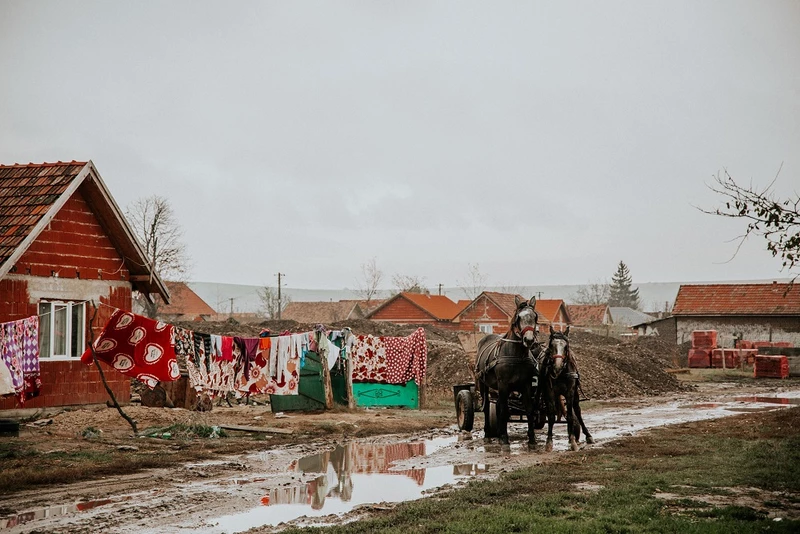
[[[265,489],[258,506],[209,522],[210,532],[241,532],[301,516],[341,515],[356,506],[419,499],[426,492],[486,472],[483,464],[414,467],[413,460],[452,445],[457,438],[411,443],[353,442],[300,458],[290,470],[319,476],[304,484]],[[411,463],[409,466],[408,464]],[[397,465],[399,464],[399,466]]]

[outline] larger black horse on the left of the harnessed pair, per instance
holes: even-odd
[[[508,444],[508,396],[516,391],[522,395],[522,405],[528,416],[528,443],[535,438],[536,407],[534,405],[534,382],[538,376],[539,345],[536,343],[536,299],[526,301],[514,297],[517,309],[511,319],[508,332],[500,337],[491,334],[478,343],[478,358],[475,362],[478,391],[483,399],[484,435],[492,435],[489,397],[497,397],[497,436]],[[531,350],[535,354],[531,353]]]

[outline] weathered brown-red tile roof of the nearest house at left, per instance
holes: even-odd
[[[0,165],[0,265],[80,174],[85,161]]]

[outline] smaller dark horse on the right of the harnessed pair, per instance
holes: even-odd
[[[578,450],[581,429],[586,434],[586,443],[594,443],[594,438],[586,429],[581,416],[580,374],[578,365],[569,350],[569,327],[557,332],[550,326],[550,340],[541,362],[539,375],[539,391],[547,409],[547,444],[545,450],[553,450],[553,424],[556,421],[557,409],[561,413],[561,396],[564,396],[567,410],[567,434],[569,445],[573,451]],[[537,402],[537,406],[539,403]]]

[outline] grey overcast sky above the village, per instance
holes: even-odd
[[[0,162],[170,199],[195,280],[770,278],[699,213],[800,184],[800,2],[0,0]]]

